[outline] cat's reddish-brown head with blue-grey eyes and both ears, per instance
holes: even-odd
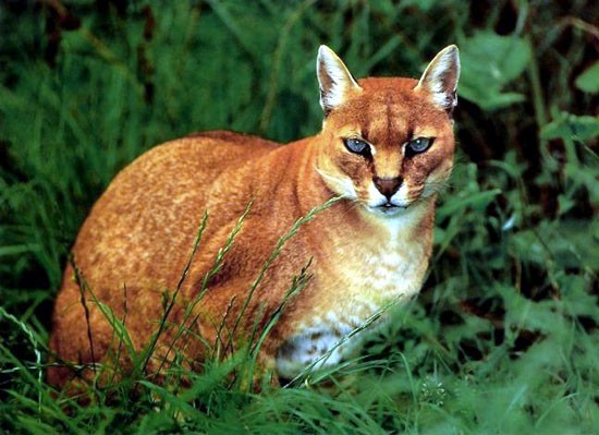
[[[453,165],[457,47],[441,50],[419,81],[356,81],[326,46],[317,72],[325,110],[317,170],[329,189],[388,217],[435,196]]]

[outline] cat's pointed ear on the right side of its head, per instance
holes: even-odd
[[[433,102],[451,113],[457,105],[457,81],[460,80],[460,51],[455,46],[443,48],[428,64],[416,89],[427,89]]]

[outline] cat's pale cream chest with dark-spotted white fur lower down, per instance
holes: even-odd
[[[358,349],[366,333],[360,329],[374,315],[418,292],[427,246],[405,244],[401,237],[347,243],[317,266],[317,297],[277,354],[283,377],[310,365],[335,365]]]

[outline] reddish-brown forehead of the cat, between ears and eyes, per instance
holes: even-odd
[[[436,136],[450,121],[443,110],[415,92],[417,80],[363,78],[364,92],[340,107],[338,126],[372,143],[396,143],[413,135]]]

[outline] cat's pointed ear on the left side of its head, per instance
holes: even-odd
[[[320,46],[318,49],[316,73],[320,86],[320,106],[325,110],[325,116],[346,101],[352,95],[362,92],[362,87],[352,76],[347,67],[327,46]]]

